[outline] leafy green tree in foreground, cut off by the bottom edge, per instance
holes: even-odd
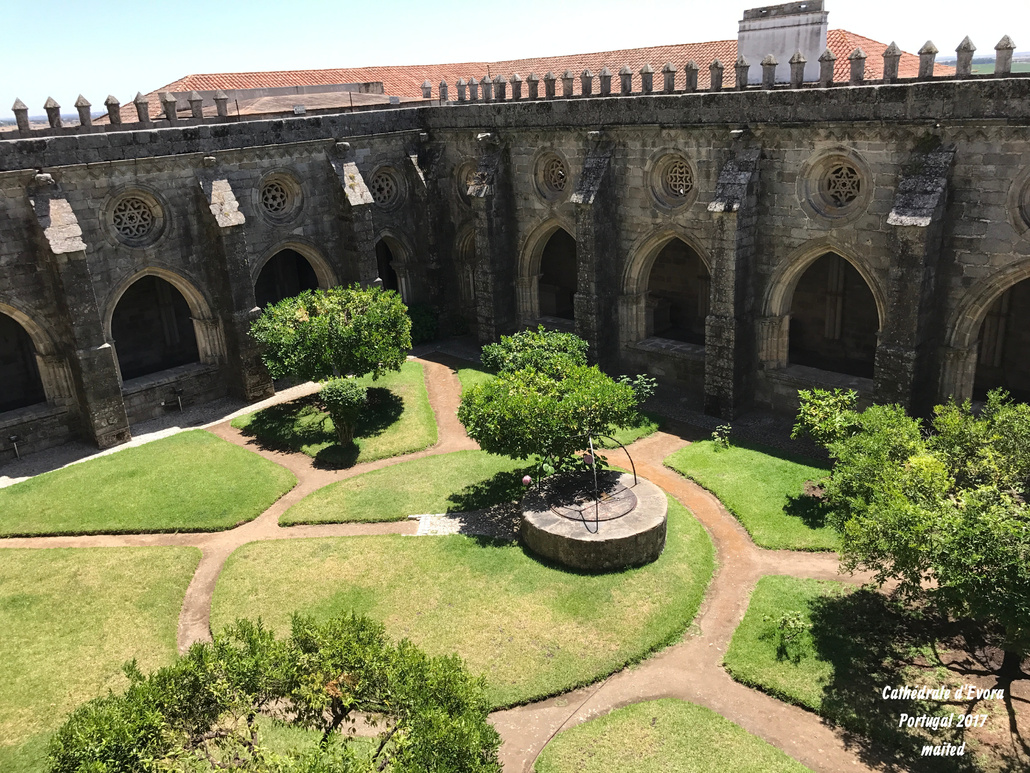
[[[295,618],[276,640],[240,620],[173,666],[76,709],[50,740],[52,773],[500,773],[482,679],[455,658],[390,643],[355,615]],[[355,749],[345,726],[381,727]],[[262,718],[264,718],[262,720]],[[275,748],[269,722],[317,731],[310,748]]]

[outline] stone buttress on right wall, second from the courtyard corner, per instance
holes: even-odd
[[[576,332],[589,344],[590,359],[610,368],[618,361],[617,206],[612,180],[614,146],[591,137],[579,184],[571,197],[576,207]]]

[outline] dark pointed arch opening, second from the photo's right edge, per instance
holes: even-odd
[[[844,258],[824,255],[794,290],[789,360],[871,378],[879,327],[877,302],[862,275]]]

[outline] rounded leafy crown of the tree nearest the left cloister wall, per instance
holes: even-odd
[[[321,381],[378,378],[400,370],[411,348],[411,320],[401,297],[379,288],[305,291],[267,307],[250,334],[273,378]]]

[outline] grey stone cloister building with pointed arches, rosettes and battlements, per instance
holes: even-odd
[[[934,76],[929,45],[898,77],[891,46],[876,80],[856,49],[846,82],[833,61],[781,82],[742,58],[703,63],[703,91],[693,62],[613,66],[566,97],[497,75],[414,106],[235,121],[172,98],[164,121],[0,135],[0,459],[270,395],[258,309],[353,281],[482,341],[575,330],[603,367],[723,417],[811,386],[915,411],[1028,399],[1012,47],[992,76],[970,46]]]

